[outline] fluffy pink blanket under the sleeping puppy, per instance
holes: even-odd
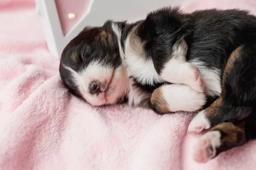
[[[198,0],[186,11],[245,8],[255,0]],[[159,116],[114,105],[92,108],[61,83],[33,0],[0,0],[0,170],[253,170],[256,141],[207,164],[192,160],[201,134],[191,113]]]

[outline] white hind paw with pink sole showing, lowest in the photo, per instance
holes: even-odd
[[[195,144],[193,159],[205,163],[216,156],[216,148],[221,146],[221,133],[217,130],[205,133]]]

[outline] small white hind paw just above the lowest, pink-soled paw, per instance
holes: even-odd
[[[211,127],[210,122],[204,116],[204,111],[199,112],[190,122],[188,131],[199,133]]]

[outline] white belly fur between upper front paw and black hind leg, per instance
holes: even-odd
[[[203,62],[196,59],[189,62],[200,70],[205,93],[209,96],[219,96],[221,94],[221,71],[217,68],[207,68]]]

